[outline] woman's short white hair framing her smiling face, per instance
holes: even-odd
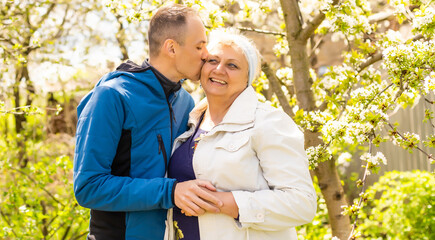
[[[254,42],[234,28],[214,29],[210,32],[209,39],[208,49],[223,45],[236,46],[242,50],[249,65],[248,85],[251,85],[261,69],[261,55]]]

